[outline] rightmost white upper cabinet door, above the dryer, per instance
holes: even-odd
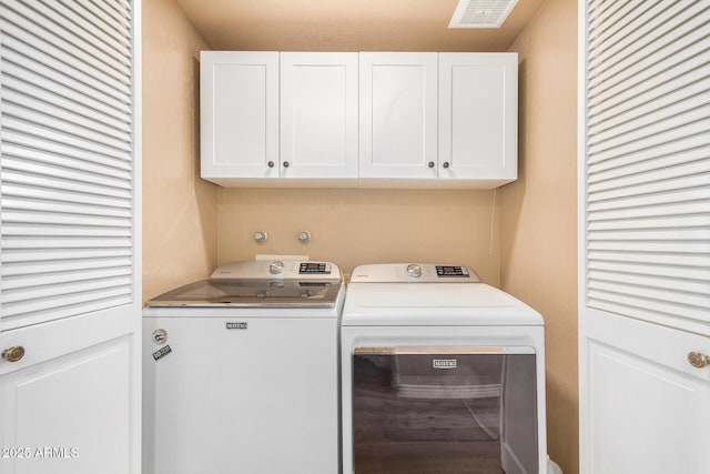
[[[439,54],[439,178],[517,179],[515,53]]]

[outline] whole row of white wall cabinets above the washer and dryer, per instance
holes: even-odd
[[[496,188],[517,179],[517,56],[201,56],[202,178],[222,185]]]

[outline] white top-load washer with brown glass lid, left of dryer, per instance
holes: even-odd
[[[341,272],[241,262],[143,312],[143,472],[339,470]]]

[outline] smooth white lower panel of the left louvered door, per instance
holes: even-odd
[[[0,472],[138,472],[140,375],[129,311],[3,333],[3,347],[27,353],[0,363],[0,447],[11,450]]]

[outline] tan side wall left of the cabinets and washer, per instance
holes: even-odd
[[[199,51],[172,0],[143,0],[143,300],[209,275],[216,186],[199,178]]]

